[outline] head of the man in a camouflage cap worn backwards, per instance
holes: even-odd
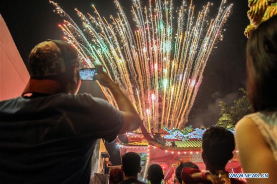
[[[61,40],[41,42],[30,52],[29,65],[31,79],[25,92],[78,92],[79,58],[72,45]]]

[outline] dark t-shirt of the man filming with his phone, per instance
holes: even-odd
[[[97,139],[111,142],[123,115],[88,94],[0,102],[0,183],[89,183]]]

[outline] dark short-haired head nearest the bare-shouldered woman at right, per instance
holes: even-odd
[[[235,149],[234,135],[223,127],[212,126],[202,137],[202,158],[206,166],[225,168],[233,158]]]

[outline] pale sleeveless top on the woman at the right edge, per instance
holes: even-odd
[[[250,118],[260,130],[277,162],[277,112],[257,112],[245,116]]]

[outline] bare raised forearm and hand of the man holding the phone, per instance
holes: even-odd
[[[125,96],[118,84],[116,84],[110,76],[103,71],[103,67],[101,65],[96,67],[98,74],[95,75],[95,79],[97,79],[101,85],[110,89],[119,111],[123,114],[124,123],[119,134],[124,134],[138,129],[142,124],[142,120],[137,114],[131,101]]]

